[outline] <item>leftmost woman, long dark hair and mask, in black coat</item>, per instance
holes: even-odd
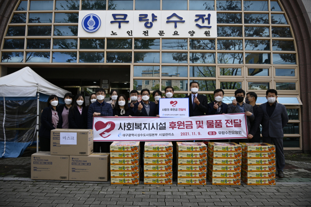
[[[58,98],[51,95],[48,98],[48,107],[42,110],[41,126],[39,129],[40,150],[44,152],[51,151],[51,130],[62,128],[62,114],[57,112]]]

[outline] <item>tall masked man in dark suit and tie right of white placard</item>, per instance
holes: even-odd
[[[199,83],[196,81],[190,82],[191,94],[186,96],[189,98],[189,116],[204,116],[207,113],[207,98],[204,95],[198,94]]]

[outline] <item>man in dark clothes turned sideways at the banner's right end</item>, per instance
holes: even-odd
[[[255,92],[248,92],[246,94],[245,103],[253,106],[255,119],[251,122],[251,130],[248,132],[247,139],[250,143],[260,142],[260,124],[263,117],[263,111],[256,105],[257,94]]]

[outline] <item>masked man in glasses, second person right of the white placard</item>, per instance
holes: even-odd
[[[207,115],[228,113],[228,105],[223,102],[225,92],[223,89],[214,91],[214,102],[208,104]]]

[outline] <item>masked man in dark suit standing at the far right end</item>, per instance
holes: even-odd
[[[269,89],[266,91],[268,102],[259,107],[263,111],[262,141],[276,145],[276,170],[280,178],[284,177],[285,158],[283,152],[283,127],[288,123],[288,113],[286,107],[276,103],[277,91]]]

